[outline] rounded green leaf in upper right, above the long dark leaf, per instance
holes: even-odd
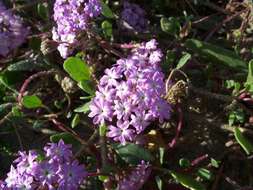
[[[160,25],[162,31],[171,35],[178,35],[180,31],[180,23],[175,17],[162,17],[160,20]]]

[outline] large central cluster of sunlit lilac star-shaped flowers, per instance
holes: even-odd
[[[165,95],[164,75],[156,40],[143,43],[132,54],[105,70],[89,117],[94,124],[109,124],[108,137],[125,144],[159,119],[169,119],[171,107]]]

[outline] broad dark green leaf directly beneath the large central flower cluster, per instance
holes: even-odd
[[[141,160],[152,161],[154,158],[151,153],[136,144],[128,143],[126,145],[113,144],[112,145],[118,155],[129,164],[138,164]]]

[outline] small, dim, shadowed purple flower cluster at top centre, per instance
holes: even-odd
[[[127,1],[124,2],[123,8],[121,19],[137,32],[145,32],[148,26],[146,12],[139,5]]]

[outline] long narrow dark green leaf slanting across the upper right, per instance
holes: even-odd
[[[233,51],[196,39],[188,39],[185,46],[207,61],[221,63],[233,69],[239,68],[244,72],[247,70],[247,64]]]

